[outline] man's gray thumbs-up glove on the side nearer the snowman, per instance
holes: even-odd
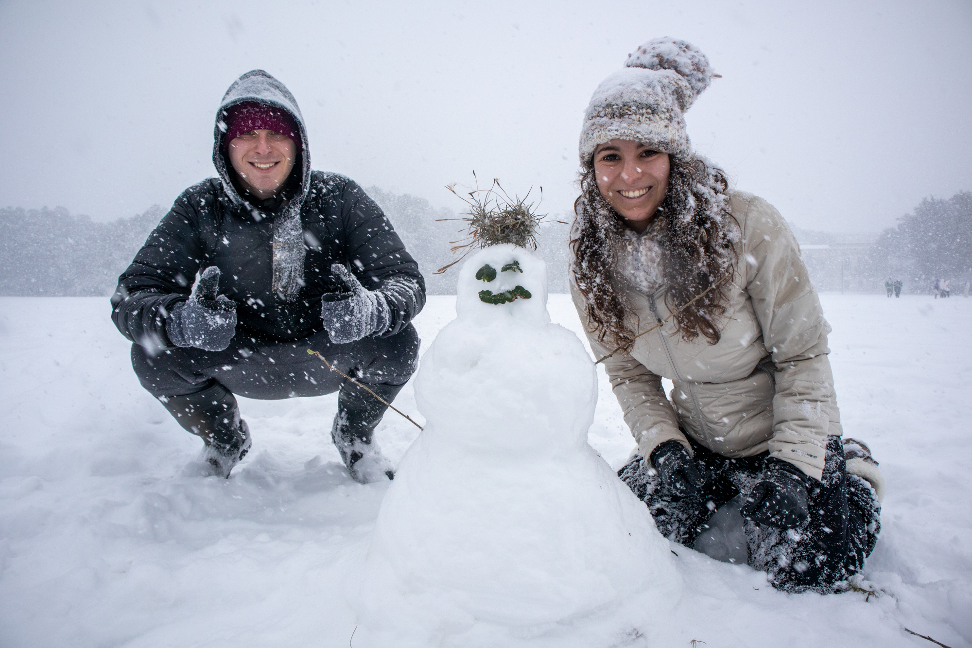
[[[392,309],[380,292],[364,288],[351,270],[334,264],[330,271],[344,284],[340,293],[322,296],[321,318],[331,342],[347,344],[376,333],[384,333],[392,323]]]

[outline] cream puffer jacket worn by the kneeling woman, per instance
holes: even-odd
[[[702,335],[685,342],[670,319],[630,352],[615,353],[605,369],[643,456],[671,440],[691,452],[680,424],[723,456],[769,450],[820,479],[827,435],[842,434],[827,359],[830,325],[780,212],[741,192],[730,195],[730,207],[742,236],[719,342]],[[671,314],[664,286],[651,296],[622,279],[616,287],[630,306],[625,323],[637,333]],[[571,292],[591,350],[608,355],[614,346],[590,332],[573,281]],[[675,384],[671,402],[661,378]]]

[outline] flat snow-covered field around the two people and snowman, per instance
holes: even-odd
[[[846,433],[888,484],[878,593],[781,594],[673,545],[685,594],[664,621],[635,597],[481,645],[934,645],[909,628],[972,646],[972,300],[821,300]],[[453,303],[430,299],[423,347]],[[579,334],[567,296],[550,311]],[[617,467],[633,441],[599,374],[589,439]],[[107,299],[0,298],[0,645],[353,645],[347,592],[387,485],[340,465],[334,396],[240,403],[250,455],[228,481],[194,476],[199,441],[139,386]],[[396,405],[415,415],[411,386]],[[389,414],[378,440],[398,461],[417,432]]]

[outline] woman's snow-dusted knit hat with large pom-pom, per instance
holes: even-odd
[[[690,43],[666,37],[648,41],[624,65],[594,90],[580,129],[580,162],[587,164],[594,149],[612,139],[688,157],[682,113],[719,76],[709,58]]]

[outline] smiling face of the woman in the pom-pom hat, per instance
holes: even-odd
[[[658,213],[671,168],[667,153],[628,139],[612,139],[594,149],[598,189],[635,232],[644,232]]]

